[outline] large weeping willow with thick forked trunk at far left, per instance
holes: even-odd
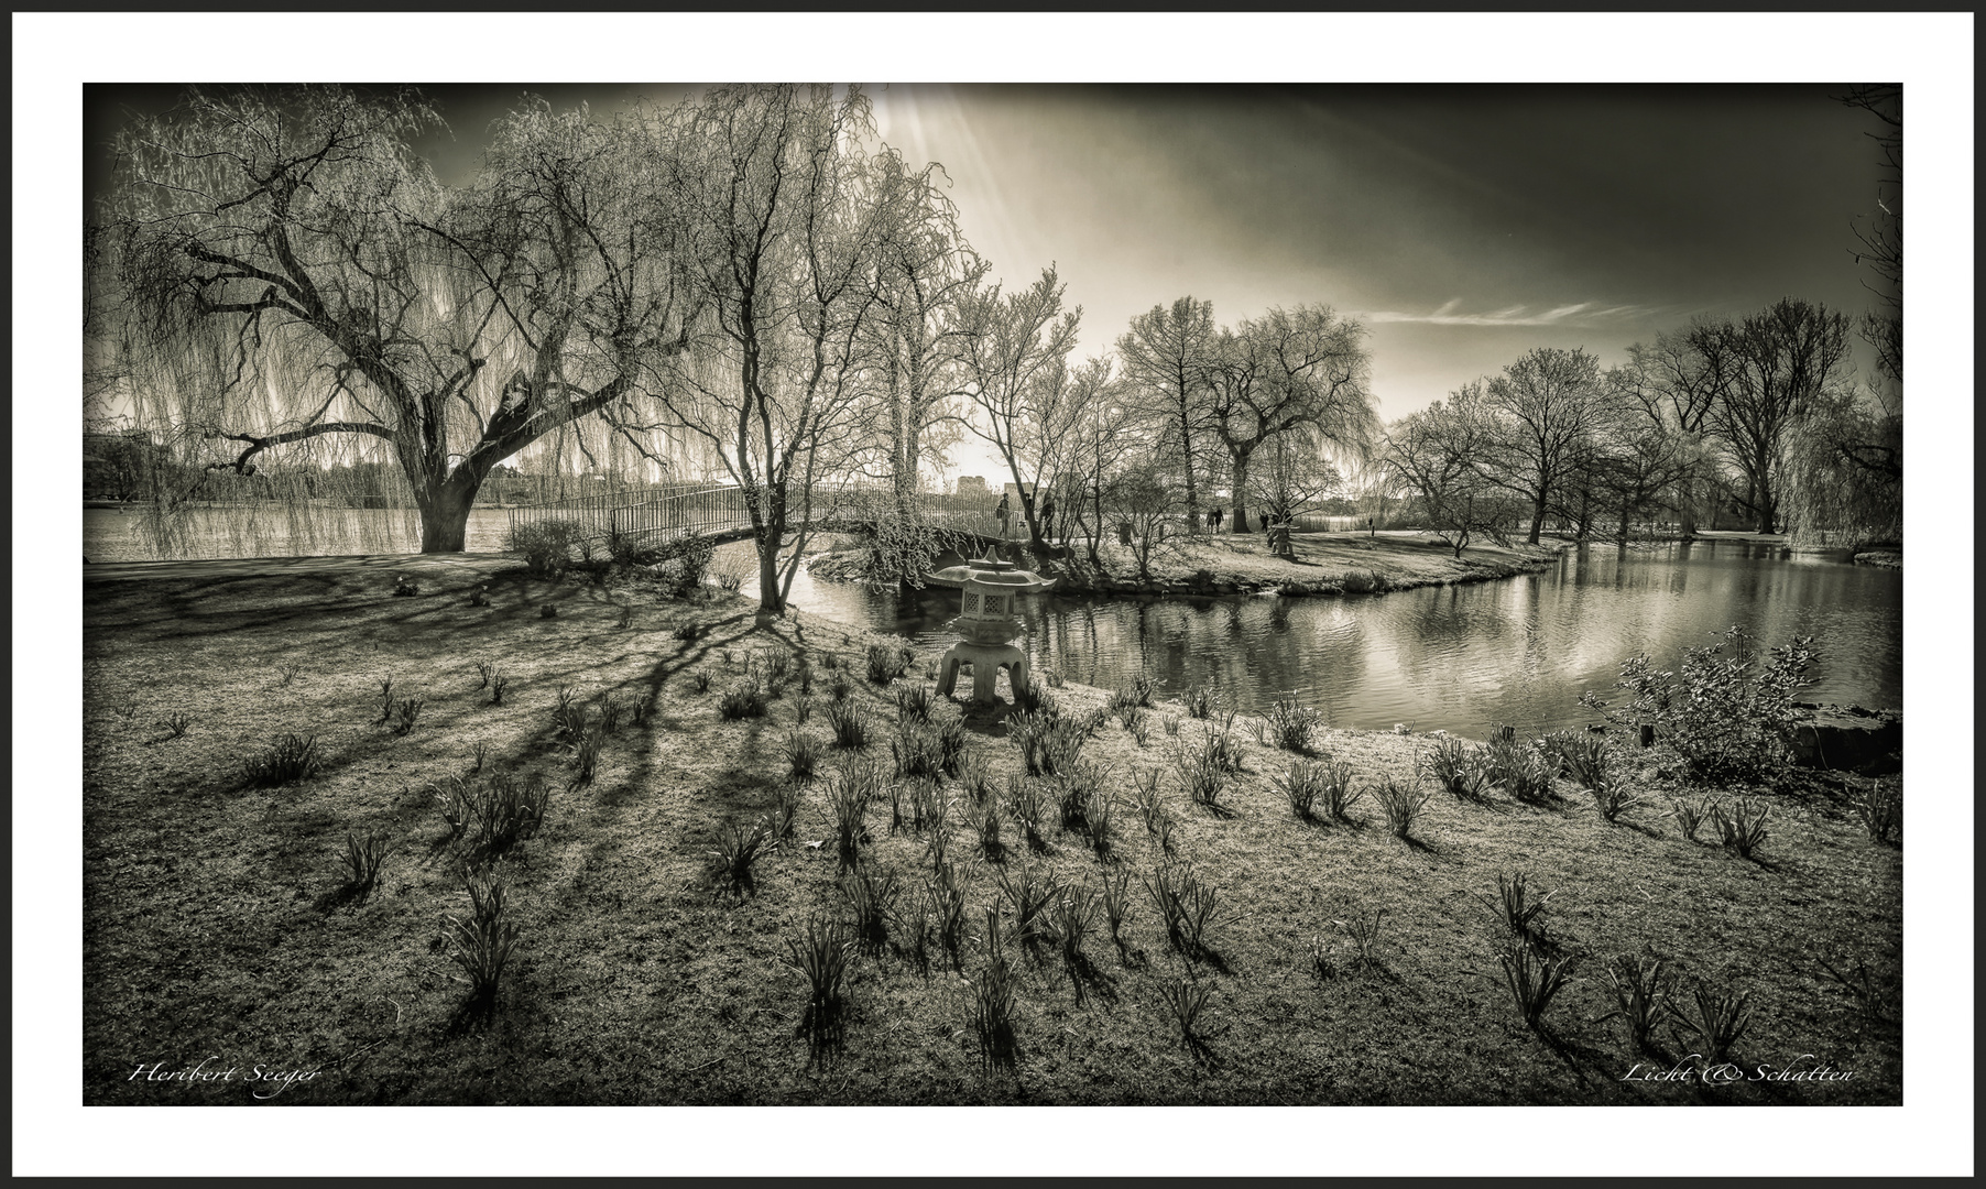
[[[354,500],[459,552],[504,459],[669,464],[639,379],[695,310],[643,127],[526,103],[461,189],[411,147],[439,127],[417,91],[234,87],[119,135],[103,349],[131,421],[197,476],[153,502],[161,552],[214,502],[280,506],[308,550]],[[354,488],[373,462],[389,478]]]

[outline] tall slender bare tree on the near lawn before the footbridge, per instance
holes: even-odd
[[[870,135],[858,87],[751,85],[711,89],[653,137],[657,218],[707,310],[657,397],[743,492],[761,615],[784,611],[816,484],[860,447],[880,252],[902,214],[860,149]]]

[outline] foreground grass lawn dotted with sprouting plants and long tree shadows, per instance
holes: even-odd
[[[1335,534],[1329,548],[1360,546]],[[1202,744],[1211,725],[1178,703],[1148,711],[1144,742],[1108,719],[1082,744],[1114,804],[1108,861],[1082,832],[1055,826],[1053,802],[1043,850],[1009,818],[1007,854],[985,861],[963,822],[971,794],[945,780],[947,852],[965,877],[959,967],[935,941],[920,963],[900,913],[850,963],[840,1044],[810,1046],[798,1034],[806,983],[786,959],[810,915],[848,915],[832,782],[800,788],[796,832],[759,859],[751,889],[721,891],[709,861],[727,828],[773,812],[788,732],[822,742],[824,776],[842,764],[826,725],[836,673],[872,728],[856,762],[890,776],[896,693],[868,681],[872,637],[816,617],[761,627],[755,605],[729,595],[677,601],[522,570],[498,574],[491,605],[477,607],[479,580],[423,578],[417,597],[393,597],[391,580],[367,574],[85,586],[85,1104],[244,1104],[258,1090],[280,1090],[278,1104],[1903,1098],[1903,854],[1867,838],[1837,778],[1768,794],[1770,834],[1752,859],[1710,844],[1708,824],[1704,842],[1682,838],[1670,816],[1680,794],[1654,774],[1656,752],[1627,758],[1648,804],[1621,824],[1563,780],[1545,806],[1501,794],[1464,804],[1428,782],[1432,798],[1402,840],[1372,794],[1350,822],[1299,820],[1271,784],[1293,756],[1263,744],[1249,719],[1233,723],[1241,770],[1217,810],[1194,804],[1170,752]],[[556,617],[540,617],[546,603]],[[679,639],[689,623],[703,633]],[[765,717],[719,715],[755,649],[761,661],[771,649],[808,659],[804,725],[798,669]],[[927,661],[912,663],[908,685],[933,685]],[[502,705],[491,705],[479,663],[506,677]],[[395,697],[423,699],[405,734],[379,721],[387,677]],[[624,711],[586,782],[554,725],[560,689],[594,717],[602,695]],[[1080,687],[1053,697],[1070,719],[1108,701]],[[643,699],[643,721],[628,721]],[[947,715],[957,711],[935,709]],[[316,738],[322,772],[254,786],[244,762],[284,732]],[[1005,715],[967,715],[963,736],[1005,798],[1023,762]],[[1410,782],[1430,740],[1319,730],[1317,744],[1368,788]],[[1132,804],[1150,774],[1162,802],[1152,820],[1172,822],[1164,842]],[[516,943],[487,1014],[465,1006],[445,931],[471,905],[459,875],[467,844],[451,842],[435,798],[457,776],[550,786],[542,828],[495,863]],[[933,875],[933,830],[892,830],[888,796],[866,826],[860,869],[894,875],[908,909]],[[365,832],[391,852],[359,895],[344,889],[340,856],[348,834]],[[1168,939],[1144,887],[1166,842],[1213,889],[1196,959]],[[1007,939],[1013,1064],[987,1064],[969,1020],[991,965],[985,909],[1013,931],[1001,875],[1021,883],[1023,871],[1088,889],[1122,875],[1130,915],[1122,947],[1092,923],[1074,965],[1053,943],[1037,953]],[[1545,933],[1553,953],[1575,959],[1541,1030],[1515,1008],[1497,959],[1503,931],[1484,903],[1497,875],[1515,871],[1533,899],[1551,895]],[[1348,925],[1374,919],[1360,947]],[[1634,1078],[1636,1066],[1670,1070],[1702,1044],[1664,1024],[1636,1052],[1625,1022],[1607,1018],[1617,955],[1660,959],[1678,1004],[1698,987],[1750,994],[1732,1048],[1740,1076],[1758,1066],[1807,1076]],[[1861,963],[1867,994],[1823,961],[1851,979]],[[1202,1002],[1192,1040],[1174,1010],[1182,996]],[[209,1056],[224,1062],[209,1070],[238,1074],[133,1078]],[[250,1084],[256,1066],[264,1076]],[[1823,1068],[1849,1076],[1811,1076]]]

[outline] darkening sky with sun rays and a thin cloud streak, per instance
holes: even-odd
[[[526,91],[608,117],[695,89],[407,81],[449,123],[419,149],[455,183]],[[884,143],[943,165],[995,280],[1057,268],[1082,308],[1078,357],[1182,296],[1211,300],[1223,326],[1323,304],[1366,326],[1392,421],[1531,347],[1619,363],[1698,314],[1875,306],[1849,248],[1881,125],[1833,99],[1845,83],[866,89]],[[85,89],[89,191],[125,111],[175,95]],[[973,439],[955,462],[1003,470]]]

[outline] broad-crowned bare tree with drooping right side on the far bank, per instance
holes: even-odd
[[[1207,419],[1231,462],[1229,532],[1247,532],[1249,461],[1281,433],[1362,447],[1376,431],[1364,328],[1323,306],[1269,310],[1217,337]]]

